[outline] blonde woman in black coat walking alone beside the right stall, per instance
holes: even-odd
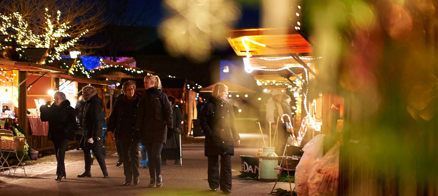
[[[226,98],[228,87],[225,84],[216,84],[212,97],[202,108],[200,124],[205,134],[204,154],[208,159],[208,185],[212,191],[216,191],[220,185],[223,193],[231,193],[231,156],[234,155],[234,142],[240,145],[240,137],[233,105]]]

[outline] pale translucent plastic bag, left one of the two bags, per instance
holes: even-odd
[[[319,134],[303,147],[304,154],[295,171],[295,192],[297,192],[299,196],[309,195],[309,187],[307,184],[308,174],[312,163],[322,157],[324,137],[324,134]]]

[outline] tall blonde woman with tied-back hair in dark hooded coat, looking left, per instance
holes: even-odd
[[[162,92],[158,76],[145,77],[145,94],[141,96],[137,110],[136,129],[141,133],[149,157],[149,187],[162,186],[161,149],[166,137],[173,131],[172,108],[167,95]],[[156,177],[156,179],[155,179]]]

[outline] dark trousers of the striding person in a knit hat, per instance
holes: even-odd
[[[100,169],[102,172],[106,172],[106,165],[105,165],[105,158],[103,157],[102,151],[102,140],[101,141],[94,141],[93,144],[88,143],[85,140],[84,144],[84,160],[85,160],[85,172],[91,171],[91,153],[90,150],[93,151],[94,156],[97,159],[97,162],[99,163]]]

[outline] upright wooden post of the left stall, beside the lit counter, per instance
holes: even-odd
[[[26,80],[27,71],[18,72],[18,84]],[[21,86],[18,87],[18,124],[25,130],[28,131],[28,119],[27,119],[27,81],[23,82]]]

